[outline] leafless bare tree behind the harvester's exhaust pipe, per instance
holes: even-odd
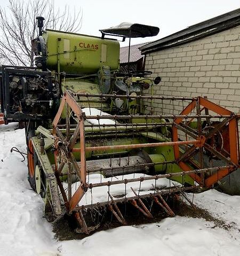
[[[37,36],[37,16],[43,16],[44,28],[77,32],[82,26],[82,10],[56,8],[54,0],[9,0],[0,7],[0,63],[33,66],[31,39]]]

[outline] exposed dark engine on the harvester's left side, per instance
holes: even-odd
[[[52,74],[36,68],[3,67],[2,108],[7,119],[47,119],[59,104],[59,86]]]

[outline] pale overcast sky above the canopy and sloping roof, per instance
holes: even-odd
[[[1,6],[6,6],[7,2],[0,0]],[[155,41],[240,8],[240,0],[55,0],[56,6],[65,4],[83,10],[83,23],[79,31],[81,34],[100,36],[99,29],[116,26],[121,22],[142,23],[160,28],[158,36],[133,38],[132,44]]]

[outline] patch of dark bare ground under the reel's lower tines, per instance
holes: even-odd
[[[206,221],[214,223],[214,226],[211,226],[211,228],[219,227],[226,230],[229,230],[230,228],[235,228],[235,223],[227,224],[224,220],[213,217],[210,214],[210,212],[201,209],[194,204],[189,205],[185,202],[182,202],[181,199],[175,199],[175,197],[166,198],[166,201],[173,210],[173,212],[175,213],[175,215],[179,215],[181,217],[202,218]],[[148,205],[151,204],[151,213],[154,216],[153,219],[146,218],[142,213],[140,213],[129,203],[124,205],[118,205],[119,209],[124,215],[124,219],[126,220],[127,225],[133,226],[141,225],[144,223],[154,223],[159,222],[164,218],[170,217],[170,215],[163,211],[163,209],[161,209],[161,207],[159,207],[158,205],[155,205],[150,202],[145,202],[146,205],[147,203]],[[91,215],[92,218],[91,212],[86,213],[86,222],[88,219],[91,219],[89,215]],[[105,211],[103,217],[98,219],[99,228],[92,231],[90,235],[94,234],[97,231],[107,230],[121,226],[121,224],[118,221],[116,221],[115,217],[111,212]],[[64,217],[53,223],[53,232],[55,233],[55,239],[58,239],[59,241],[83,239],[84,237],[89,236],[87,234],[82,233],[81,229],[77,227],[75,219],[67,214],[65,214]]]

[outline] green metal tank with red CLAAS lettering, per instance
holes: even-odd
[[[119,68],[119,43],[100,37],[46,30],[47,68],[68,74],[94,74]]]

